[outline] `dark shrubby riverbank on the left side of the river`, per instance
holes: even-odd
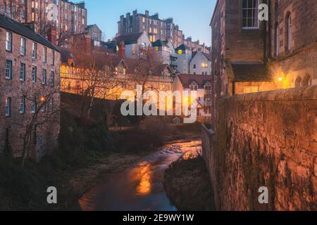
[[[108,173],[120,172],[166,141],[192,137],[195,124],[170,123],[166,117],[148,117],[128,129],[109,129],[105,112],[77,114],[75,101],[61,105],[59,148],[40,162],[0,155],[0,210],[65,210]],[[101,107],[102,108],[102,107]],[[58,204],[46,203],[46,190],[55,186]]]

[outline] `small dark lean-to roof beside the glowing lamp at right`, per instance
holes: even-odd
[[[266,68],[260,63],[231,63],[235,82],[271,82],[273,79]]]

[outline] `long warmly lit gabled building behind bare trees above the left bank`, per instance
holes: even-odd
[[[146,91],[172,90],[173,70],[168,64],[153,62],[149,65],[149,60],[122,58],[102,49],[97,51],[93,50],[90,53],[86,51],[84,54],[87,56],[82,58],[77,57],[78,52],[62,49],[61,91],[83,95],[94,86],[95,98],[118,100],[123,91],[135,92],[137,85],[144,86]],[[102,56],[101,60],[97,59],[97,64],[102,65],[101,69],[89,68],[87,63],[81,61],[89,57],[89,54]]]

